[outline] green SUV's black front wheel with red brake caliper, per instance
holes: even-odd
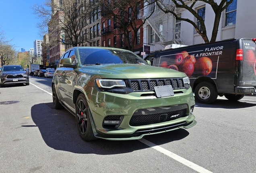
[[[84,94],[80,94],[76,100],[76,125],[80,137],[84,141],[95,140],[90,121],[90,110]]]

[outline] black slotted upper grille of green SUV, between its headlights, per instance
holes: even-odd
[[[153,91],[156,86],[171,85],[173,90],[184,89],[182,78],[132,79],[129,80],[133,91]]]

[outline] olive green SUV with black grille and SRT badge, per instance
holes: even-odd
[[[54,108],[76,117],[85,141],[141,139],[196,125],[186,74],[148,63],[118,48],[71,48],[54,72]]]

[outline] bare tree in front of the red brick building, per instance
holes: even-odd
[[[145,24],[147,18],[149,18],[155,9],[152,10],[151,14],[148,14],[141,22],[137,22],[140,16],[143,15],[143,5],[145,0],[101,0],[101,15],[105,19],[113,20],[119,30],[118,35],[124,36],[128,50],[133,51],[136,41],[136,35],[138,30]],[[129,31],[133,30],[134,35],[129,36]],[[115,34],[115,33],[113,33]]]

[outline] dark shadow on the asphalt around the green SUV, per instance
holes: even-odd
[[[94,153],[98,155],[114,155],[130,153],[135,150],[148,148],[138,140],[109,141],[97,139],[83,141],[77,131],[76,119],[66,109],[56,110],[52,103],[41,103],[31,108],[31,117],[36,125],[23,125],[22,127],[38,127],[45,143],[56,150],[72,153]],[[146,136],[145,139],[156,141],[157,145],[181,140],[189,135],[185,129]]]

